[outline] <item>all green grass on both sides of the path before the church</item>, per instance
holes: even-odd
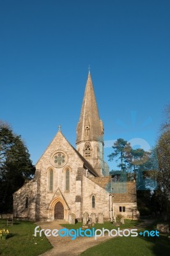
[[[141,221],[140,221],[141,222]],[[125,220],[125,224],[120,228],[135,227],[139,221]],[[143,230],[156,229],[157,223],[162,223],[161,220],[155,221],[150,227]],[[167,223],[170,225],[170,223]],[[68,229],[80,228],[82,223],[75,225],[61,224]],[[29,221],[15,221],[13,226],[6,227],[6,221],[0,220],[0,229],[5,228],[10,231],[10,236],[6,240],[0,240],[0,255],[1,256],[36,256],[40,255],[52,248],[47,238],[34,237],[34,229],[36,225]],[[115,229],[111,223],[96,224],[95,229],[107,228]],[[142,230],[142,229],[141,229]],[[81,253],[81,256],[167,256],[170,252],[170,241],[167,239],[167,234],[160,237],[115,237],[93,246]]]

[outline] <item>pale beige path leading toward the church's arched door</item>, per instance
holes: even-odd
[[[63,221],[60,223],[63,223]],[[139,224],[135,228],[144,228],[151,223],[153,223],[153,220],[144,220],[143,223]],[[56,228],[59,230],[63,228],[59,225],[59,221],[46,223],[39,222],[36,224],[40,225],[40,227],[44,229],[50,228],[52,230]],[[97,240],[95,240],[94,237],[77,237],[75,240],[72,240],[72,237],[50,236],[48,239],[53,248],[40,256],[77,256],[86,251],[88,248],[100,244],[107,239],[112,239],[112,237],[98,237]]]

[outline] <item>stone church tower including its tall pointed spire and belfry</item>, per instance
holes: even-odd
[[[77,150],[93,166],[99,177],[104,176],[104,126],[98,115],[97,102],[88,74],[86,90],[82,102],[81,116],[77,124]]]

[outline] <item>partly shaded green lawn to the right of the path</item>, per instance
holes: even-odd
[[[157,223],[162,223],[162,221],[155,221],[150,227],[141,230],[156,229]],[[81,256],[167,256],[169,252],[170,241],[167,234],[160,234],[160,237],[115,237],[89,248],[81,253]]]

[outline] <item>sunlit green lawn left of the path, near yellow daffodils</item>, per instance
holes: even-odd
[[[1,256],[36,256],[52,248],[47,238],[34,237],[35,223],[15,221],[13,226],[6,226],[6,220],[0,220],[0,229],[8,229],[8,239],[0,239]]]

